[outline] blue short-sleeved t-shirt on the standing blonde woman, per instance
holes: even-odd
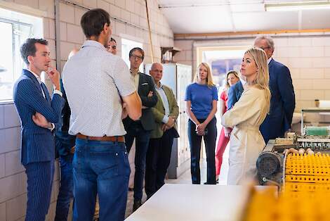
[[[218,90],[214,86],[193,83],[185,91],[185,101],[191,101],[191,110],[197,119],[207,118],[214,100],[218,101]]]

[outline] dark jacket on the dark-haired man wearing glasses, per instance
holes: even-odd
[[[152,91],[152,96],[148,97],[149,91]],[[142,101],[142,105],[147,107],[142,109],[142,116],[140,118],[144,130],[154,130],[154,115],[152,115],[151,108],[156,105],[158,98],[157,92],[154,89],[154,80],[149,75],[139,72],[138,95]],[[129,117],[123,120],[125,130],[127,131],[133,120]]]

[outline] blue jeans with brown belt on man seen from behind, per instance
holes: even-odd
[[[131,169],[124,143],[76,139],[73,158],[74,220],[93,220],[98,194],[100,221],[124,220]]]

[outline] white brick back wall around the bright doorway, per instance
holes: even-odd
[[[330,100],[330,37],[274,37],[277,61],[284,63],[291,71],[296,93],[296,111],[315,106],[315,99]],[[177,40],[175,46],[182,49],[174,60],[193,65],[196,69],[196,46],[192,51],[192,40]],[[213,42],[198,40],[195,44],[210,46],[251,45],[253,39],[225,39]],[[191,53],[194,53],[192,61]]]

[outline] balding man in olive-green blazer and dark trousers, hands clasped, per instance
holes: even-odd
[[[163,66],[153,63],[150,75],[154,80],[158,101],[152,108],[156,128],[152,130],[147,150],[145,169],[145,193],[150,198],[164,185],[164,179],[171,160],[173,139],[179,137],[176,130],[176,119],[179,107],[173,91],[160,80],[163,77]]]

